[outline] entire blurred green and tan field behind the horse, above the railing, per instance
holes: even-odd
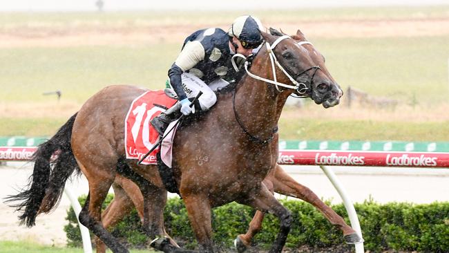
[[[227,30],[241,12],[7,12],[0,19],[0,135],[48,136],[101,88],[162,88],[182,41]],[[392,104],[290,105],[280,137],[449,140],[449,6],[257,10],[265,26],[300,28],[344,91]],[[175,17],[175,18],[174,18]],[[61,91],[55,95],[42,95]],[[363,98],[361,99],[363,100]]]

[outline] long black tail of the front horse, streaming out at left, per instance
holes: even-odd
[[[59,203],[66,180],[75,169],[79,172],[70,146],[76,116],[77,113],[50,140],[37,148],[32,158],[35,167],[29,179],[28,189],[7,197],[6,202],[21,201],[11,205],[16,207],[17,211],[25,208],[23,214],[19,216],[21,225],[26,223],[28,227],[32,227],[35,225],[37,214],[50,212]],[[53,155],[57,155],[55,160],[51,160]]]

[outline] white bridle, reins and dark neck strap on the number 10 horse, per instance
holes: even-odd
[[[285,68],[282,65],[280,65],[280,63],[278,62],[278,59],[276,58],[276,55],[274,55],[273,49],[279,44],[280,41],[283,41],[284,39],[292,39],[292,37],[289,37],[288,35],[283,35],[281,37],[278,37],[278,39],[276,39],[276,41],[274,41],[273,45],[271,45],[271,46],[270,46],[270,44],[267,41],[265,41],[265,44],[267,45],[268,55],[269,55],[269,58],[270,58],[270,61],[271,61],[271,68],[272,68],[272,71],[273,71],[274,80],[270,80],[270,79],[267,79],[267,78],[264,78],[264,77],[260,77],[258,75],[254,75],[253,73],[249,72],[249,70],[248,70],[249,62],[248,61],[245,62],[245,71],[247,71],[247,74],[250,77],[253,77],[254,79],[258,79],[260,81],[276,85],[276,90],[278,92],[282,92],[279,89],[279,87],[278,87],[278,86],[282,86],[282,87],[285,87],[285,88],[292,88],[292,89],[296,90],[299,94],[305,94],[305,93],[307,93],[307,90],[309,90],[309,87],[307,87],[307,84],[304,84],[303,82],[296,81],[296,79],[294,79],[292,77],[292,75],[290,75],[287,71],[285,71]],[[300,42],[298,42],[299,46],[302,46],[303,44],[310,44],[310,45],[312,45],[312,43],[310,43],[309,41],[300,41]],[[242,55],[236,55],[236,56],[244,57]],[[233,61],[233,59],[234,59],[234,57],[232,58],[231,62],[233,64],[233,67],[236,68],[236,64]],[[283,84],[281,82],[278,82],[278,80],[276,78],[276,70],[275,70],[275,65],[274,65],[275,63],[276,63],[276,66],[278,66],[278,68],[280,68],[280,70],[283,71],[283,73],[290,79],[290,81],[294,85]],[[310,79],[310,88],[312,88],[312,84],[314,82],[314,77],[315,77],[316,71],[318,71],[318,69],[321,69],[320,66],[312,66],[310,68],[307,68],[305,71],[301,71],[300,73],[294,75],[294,77],[298,78],[301,75],[307,73],[307,71],[314,70],[314,73],[312,74],[312,78]],[[236,70],[237,70],[237,68],[236,68]],[[303,86],[303,88],[300,88],[301,86]],[[297,97],[306,97],[306,96],[297,96]],[[247,128],[243,125],[243,123],[241,122],[240,117],[238,116],[237,111],[236,111],[236,88],[233,90],[232,108],[233,108],[234,115],[236,117],[236,120],[237,120],[238,124],[240,125],[242,130],[248,135],[250,140],[252,140],[254,142],[259,142],[260,144],[267,144],[267,143],[271,142],[271,140],[274,139],[274,133],[276,133],[278,131],[277,127],[275,127],[273,129],[273,131],[271,132],[271,136],[269,138],[267,138],[266,140],[263,140],[261,138],[258,138],[255,135],[252,135],[251,133],[249,133]]]

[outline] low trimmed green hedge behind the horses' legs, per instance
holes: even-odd
[[[111,201],[108,196],[105,206]],[[85,197],[79,198],[84,203]],[[297,249],[308,247],[325,249],[343,247],[353,248],[343,243],[341,232],[318,212],[312,205],[299,200],[282,200],[294,216],[294,225],[287,238],[287,247]],[[328,203],[329,204],[329,203]],[[343,204],[331,205],[332,209],[347,217]],[[380,205],[372,200],[355,205],[361,223],[365,250],[382,252],[384,250],[405,250],[420,252],[449,252],[449,203],[415,205],[410,203],[388,203]],[[233,239],[247,231],[254,210],[244,205],[231,203],[213,209],[214,241],[219,247],[232,247]],[[187,248],[195,247],[187,212],[182,200],[168,200],[164,212],[167,232]],[[81,235],[75,213],[70,208],[64,227],[68,245],[81,246]],[[345,221],[349,223],[348,219]],[[278,220],[273,215],[265,216],[262,231],[256,235],[258,247],[267,248],[278,232]],[[140,229],[140,218],[135,210],[120,222],[112,233],[129,247],[145,247],[146,236]],[[342,246],[343,245],[343,246]]]

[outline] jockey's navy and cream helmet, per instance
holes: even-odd
[[[233,21],[228,34],[240,40],[243,48],[257,48],[262,43],[260,31],[263,29],[258,18],[245,15]]]

